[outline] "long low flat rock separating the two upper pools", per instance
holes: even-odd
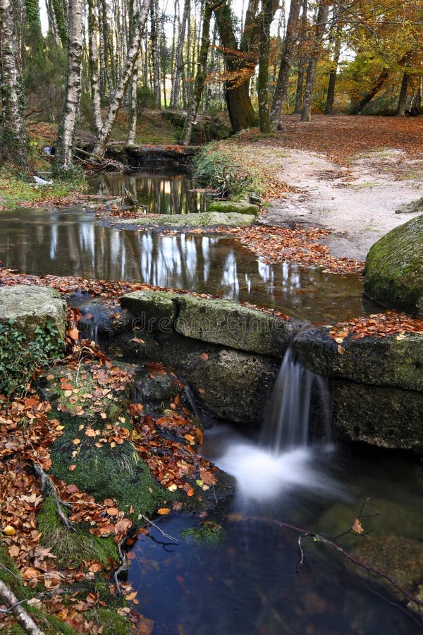
[[[252,214],[240,214],[235,212],[201,212],[199,214],[158,214],[145,218],[119,219],[118,226],[143,226],[143,227],[239,227],[252,225],[255,216]]]

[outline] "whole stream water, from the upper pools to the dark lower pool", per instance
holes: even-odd
[[[199,212],[206,205],[189,177],[174,171],[105,176],[91,188],[110,196],[127,188],[155,213]],[[309,322],[378,310],[355,274],[266,265],[220,235],[103,226],[87,207],[0,212],[0,260],[27,274],[190,289]],[[295,375],[292,368],[288,375]],[[302,412],[277,409],[283,407],[285,420]],[[264,413],[264,421],[270,417]],[[202,453],[237,479],[233,500],[201,517],[163,516],[128,552],[136,610],[154,622],[153,635],[422,634],[422,622],[403,598],[312,538],[303,540],[297,573],[298,532],[284,525],[321,533],[358,553],[362,537],[348,530],[362,509],[364,530],[375,542],[421,540],[423,474],[415,457],[329,442],[269,450],[258,434],[223,423],[206,431]],[[202,539],[204,529],[217,525],[216,543]]]

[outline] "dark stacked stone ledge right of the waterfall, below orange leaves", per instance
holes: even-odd
[[[329,328],[293,343],[308,370],[330,378],[334,423],[347,440],[392,449],[423,449],[423,335],[345,338],[341,352]]]

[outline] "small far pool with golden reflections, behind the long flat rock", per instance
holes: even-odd
[[[124,196],[125,190],[133,193],[149,214],[207,211],[207,200],[195,191],[195,182],[180,171],[144,169],[134,174],[104,175],[90,181],[92,193]]]

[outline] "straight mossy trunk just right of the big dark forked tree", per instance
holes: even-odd
[[[269,52],[270,25],[273,17],[272,0],[262,1],[262,20],[260,24],[259,78],[257,92],[259,97],[259,128],[263,134],[270,132],[269,117]]]

